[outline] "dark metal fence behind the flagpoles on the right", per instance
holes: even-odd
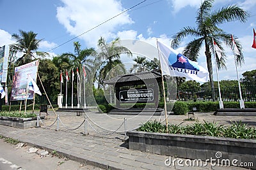
[[[221,87],[222,101],[239,101],[238,87]],[[244,101],[256,101],[256,85],[247,85],[241,87],[242,97]],[[177,90],[177,98],[172,101],[186,101],[192,102],[209,102],[218,101],[219,90],[214,89],[200,89],[191,92],[191,90]]]

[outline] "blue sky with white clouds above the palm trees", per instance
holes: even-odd
[[[142,1],[142,0],[141,0]],[[170,44],[173,34],[184,26],[195,26],[196,10],[201,0],[147,0],[130,11],[102,24],[96,29],[93,27],[121,13],[135,4],[138,0],[0,0],[0,46],[14,43],[13,33],[19,30],[33,31],[38,39],[43,39],[39,51],[48,52],[70,39],[79,36],[65,45],[51,50],[51,56],[64,52],[74,52],[73,42],[79,41],[82,48],[97,47],[100,36],[108,41],[120,37],[121,39],[138,39],[156,46],[156,38],[166,45]],[[214,8],[237,4],[250,12],[251,17],[246,23],[230,22],[220,25],[226,32],[239,38],[243,45],[245,63],[239,67],[239,76],[244,71],[256,69],[256,49],[251,48],[253,28],[256,28],[256,1],[255,0],[216,0]],[[88,31],[88,32],[87,32]],[[189,42],[190,37],[176,50]],[[220,80],[236,80],[234,56],[230,49],[227,52],[227,70],[220,70]],[[199,64],[205,68],[204,50],[200,54]],[[216,80],[214,67],[214,80]]]

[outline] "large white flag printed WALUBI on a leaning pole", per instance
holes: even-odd
[[[163,75],[182,76],[189,80],[207,82],[209,72],[197,62],[189,60],[187,57],[157,41],[159,46],[160,63]]]

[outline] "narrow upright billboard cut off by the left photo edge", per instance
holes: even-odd
[[[8,69],[9,46],[0,47],[0,82],[6,83]]]

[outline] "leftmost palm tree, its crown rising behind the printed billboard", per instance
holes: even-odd
[[[47,52],[36,52],[42,39],[36,39],[37,34],[35,32],[22,30],[19,32],[20,35],[12,34],[12,38],[17,41],[16,44],[12,45],[12,50],[23,53],[22,57],[16,61],[18,66],[31,62],[33,59],[36,59],[36,56],[44,57],[49,55]]]

